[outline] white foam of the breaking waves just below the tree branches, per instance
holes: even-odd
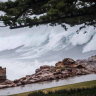
[[[86,43],[95,43],[96,30],[93,27],[86,27],[82,29],[79,34],[76,33],[78,26],[70,27],[65,31],[60,25],[52,27],[48,25],[41,25],[31,29],[24,28],[18,30],[9,30],[2,28],[0,32],[0,51],[14,49],[24,45],[16,52],[25,52],[22,56],[39,56],[49,50],[61,50],[68,45],[73,46],[82,45]],[[84,33],[87,31],[87,33]],[[94,39],[92,39],[92,37]],[[96,50],[96,47],[88,48],[86,44],[82,52]]]

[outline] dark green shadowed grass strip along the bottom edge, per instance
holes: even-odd
[[[71,90],[58,90],[55,92],[44,93],[42,91],[30,93],[28,96],[96,96],[96,87],[71,89]]]

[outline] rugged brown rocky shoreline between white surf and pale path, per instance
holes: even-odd
[[[3,68],[0,70],[3,70]],[[41,66],[39,69],[36,69],[35,74],[27,75],[26,77],[14,81],[6,79],[6,70],[4,70],[3,75],[5,77],[3,82],[0,82],[0,89],[96,73],[96,55],[88,59],[77,61],[71,58],[65,58],[57,62],[55,66]],[[2,71],[0,72],[0,74],[2,74]],[[2,79],[0,78],[0,80]]]

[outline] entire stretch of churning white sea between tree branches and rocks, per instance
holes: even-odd
[[[96,54],[96,29],[81,25],[65,31],[61,25],[33,28],[0,28],[0,66],[7,68],[7,78],[21,78],[41,65],[55,65],[66,57],[88,58]]]

